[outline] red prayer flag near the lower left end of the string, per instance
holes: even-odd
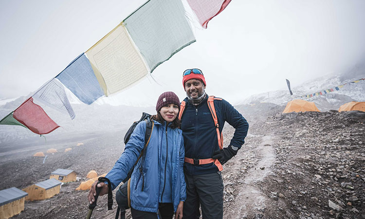
[[[59,126],[30,97],[14,111],[13,117],[37,134],[48,134]]]

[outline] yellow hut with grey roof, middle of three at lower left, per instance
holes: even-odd
[[[24,188],[23,191],[28,193],[28,196],[25,197],[25,200],[33,201],[49,199],[58,194],[60,189],[61,182],[55,179],[50,179],[28,186]]]

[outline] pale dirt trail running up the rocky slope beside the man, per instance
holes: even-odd
[[[271,166],[275,163],[275,153],[272,145],[273,137],[266,135],[261,137],[261,143],[253,147],[253,152],[259,158],[256,165],[251,168],[243,178],[238,179],[236,187],[237,196],[227,208],[225,208],[225,219],[261,218],[266,209],[267,196],[260,191],[256,182],[262,181],[265,177],[273,175]],[[241,153],[245,157],[245,153]],[[236,162],[235,166],[241,165]]]

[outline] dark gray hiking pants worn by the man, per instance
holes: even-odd
[[[185,174],[186,200],[183,208],[183,219],[223,218],[223,181],[220,172],[197,176]]]

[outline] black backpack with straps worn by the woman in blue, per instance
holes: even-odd
[[[147,145],[149,143],[149,139],[151,138],[151,134],[152,134],[152,130],[154,127],[154,123],[153,121],[150,119],[151,115],[149,115],[148,113],[144,112],[142,113],[142,117],[139,121],[134,122],[128,129],[126,135],[124,136],[124,144],[127,145],[130,135],[133,133],[134,129],[136,128],[137,124],[142,122],[142,121],[146,121],[146,133],[145,133],[145,147],[142,149],[141,154],[139,155],[136,163],[132,166],[132,168],[129,170],[128,175],[126,177],[126,179],[124,179],[123,185],[121,185],[119,187],[119,190],[116,193],[116,201],[118,203],[118,209],[115,215],[115,219],[118,219],[119,217],[119,213],[120,213],[120,218],[124,219],[125,218],[125,214],[126,214],[126,209],[130,208],[130,197],[128,194],[128,187],[129,187],[129,179],[132,176],[134,167],[137,165],[138,161],[142,158],[142,163],[141,163],[141,167],[139,168],[139,171],[143,171],[143,163],[145,162],[145,157],[146,157],[146,149],[147,149]],[[142,178],[143,181],[145,181],[143,174],[142,174]],[[127,183],[128,182],[128,183]],[[142,184],[142,191],[143,191],[143,185],[145,183]],[[117,198],[118,197],[118,198]]]

